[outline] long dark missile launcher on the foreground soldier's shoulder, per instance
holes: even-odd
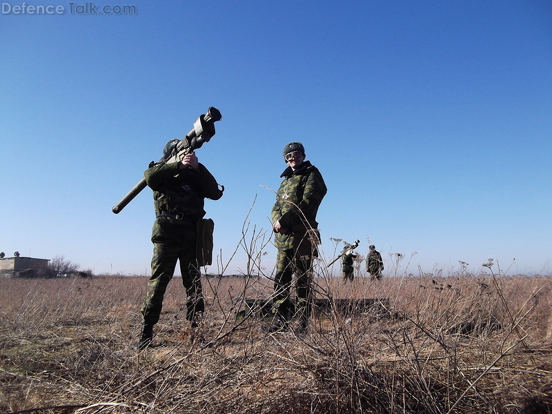
[[[186,137],[182,138],[178,143],[172,148],[172,151],[168,153],[163,158],[159,159],[156,163],[153,161],[150,163],[150,168],[152,166],[158,166],[160,164],[168,164],[171,162],[181,161],[184,158],[184,155],[189,154],[190,152],[195,151],[205,142],[215,135],[215,122],[220,121],[222,115],[220,111],[214,106],[210,106],[206,114],[199,115],[199,117],[194,122],[194,127],[190,132],[186,134]],[[146,179],[142,178],[138,184],[132,187],[126,195],[111,209],[113,213],[119,214],[125,206],[136,197],[141,190],[146,188]]]

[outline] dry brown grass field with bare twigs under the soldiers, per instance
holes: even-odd
[[[0,413],[552,412],[552,277],[315,284],[330,302],[381,302],[269,334],[236,317],[269,279],[204,279],[190,331],[175,277],[138,352],[146,278],[0,279]]]

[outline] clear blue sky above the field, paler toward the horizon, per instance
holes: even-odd
[[[552,272],[550,1],[94,3],[133,15],[3,3],[8,256],[149,275],[151,190],[111,208],[215,106],[224,118],[197,156],[226,187],[206,201],[225,263],[244,223],[248,242],[253,229],[270,235],[282,148],[302,141],[328,186],[328,261],[331,237],[360,239],[361,254],[369,238],[403,265],[417,252],[413,273],[459,261],[477,272],[489,257],[509,273]],[[264,251],[270,273],[276,250]],[[245,271],[244,257],[238,248],[228,272]]]

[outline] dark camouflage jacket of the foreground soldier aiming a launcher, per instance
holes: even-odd
[[[144,171],[146,183],[153,190],[155,215],[162,211],[184,213],[190,221],[204,217],[204,199],[217,200],[222,191],[215,177],[203,164],[199,170],[180,170],[178,163],[154,166]]]

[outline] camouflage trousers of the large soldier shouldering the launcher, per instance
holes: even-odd
[[[159,220],[164,220],[163,226],[157,226]],[[205,311],[204,298],[201,291],[201,273],[196,260],[196,225],[179,223],[177,228],[167,228],[167,217],[159,217],[154,225],[152,242],[153,257],[151,261],[151,277],[146,286],[146,299],[141,307],[144,323],[157,324],[163,298],[168,282],[175,274],[177,262],[180,264],[182,284],[186,289],[186,319],[193,320],[198,313]]]

